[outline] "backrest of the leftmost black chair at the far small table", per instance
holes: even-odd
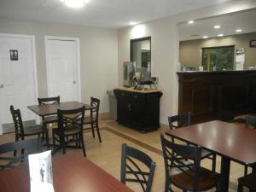
[[[15,109],[14,106],[9,107],[12,114],[14,124],[15,124],[15,133],[20,134],[20,137],[24,139],[24,127],[21,119],[20,109]]]

